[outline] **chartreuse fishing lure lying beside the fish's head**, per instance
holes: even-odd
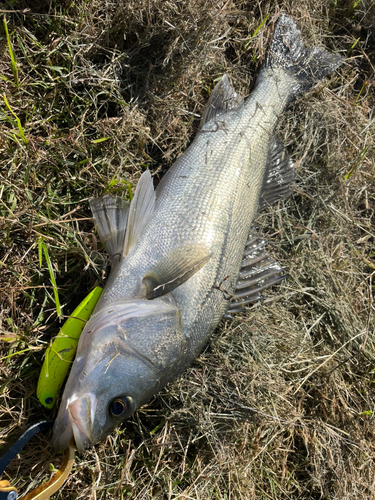
[[[103,288],[97,286],[85,297],[65,321],[46,351],[36,390],[39,401],[46,408],[51,409],[56,403],[57,394],[74,359],[79,337],[102,291]]]

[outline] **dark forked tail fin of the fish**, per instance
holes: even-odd
[[[265,68],[283,68],[296,80],[295,95],[338,68],[344,59],[321,47],[305,47],[297,25],[281,14],[266,55]]]

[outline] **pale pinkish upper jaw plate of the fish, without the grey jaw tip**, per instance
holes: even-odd
[[[94,394],[85,394],[82,397],[74,394],[68,400],[69,424],[74,436],[77,450],[83,451],[94,442],[93,422],[97,405]]]

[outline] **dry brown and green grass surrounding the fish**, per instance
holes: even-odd
[[[348,55],[280,121],[297,187],[257,224],[289,279],[223,320],[184,376],[77,456],[54,498],[373,498],[373,2],[4,9],[0,442],[55,416],[35,389],[57,305],[73,311],[106,265],[88,199],[129,199],[146,168],[158,182],[194,137],[214,81],[227,71],[249,93],[285,11],[309,44]],[[4,478],[25,491],[60,459],[49,435],[36,437]]]

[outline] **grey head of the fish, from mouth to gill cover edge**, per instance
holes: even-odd
[[[78,344],[54,447],[65,449],[74,437],[82,451],[105,438],[168,382],[185,346],[180,311],[166,297],[116,302],[95,313]]]

